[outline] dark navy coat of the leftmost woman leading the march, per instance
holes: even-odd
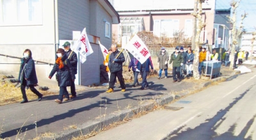
[[[37,84],[37,77],[36,77],[36,68],[35,62],[32,58],[22,58],[20,59],[20,71],[19,71],[19,80],[22,84],[24,81],[23,79],[27,79],[27,85]],[[23,78],[24,77],[24,78]]]

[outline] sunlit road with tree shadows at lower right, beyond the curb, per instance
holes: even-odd
[[[255,74],[238,75],[89,140],[256,139]]]

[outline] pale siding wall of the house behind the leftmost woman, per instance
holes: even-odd
[[[0,54],[7,56],[0,56],[0,70],[19,72],[20,58],[25,49],[32,51],[36,61],[54,63],[54,1],[42,1],[42,9],[42,24],[0,26]],[[40,68],[44,65],[36,66],[38,73],[45,74],[45,68]]]

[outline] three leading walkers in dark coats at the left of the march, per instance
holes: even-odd
[[[58,49],[56,52],[57,59],[54,66],[49,74],[49,79],[56,73],[56,80],[58,81],[58,86],[60,86],[60,92],[58,98],[54,100],[58,104],[63,101],[70,100],[70,98],[76,98],[76,87],[75,79],[77,74],[77,54],[71,51],[70,43],[65,42],[63,44],[64,49]],[[20,89],[22,93],[21,104],[28,102],[26,96],[25,88],[28,87],[33,93],[38,96],[38,101],[42,100],[42,93],[35,89],[38,84],[35,70],[35,62],[32,58],[32,52],[26,49],[23,52],[24,57],[21,59],[20,71],[19,71],[19,81]],[[71,96],[68,95],[67,86],[70,86]]]

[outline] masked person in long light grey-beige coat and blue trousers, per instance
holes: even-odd
[[[159,65],[159,75],[157,77],[158,79],[161,79],[163,70],[164,70],[164,79],[167,78],[168,61],[169,61],[168,52],[166,52],[164,47],[161,47],[161,52],[158,54],[158,57],[157,57],[157,63]]]

